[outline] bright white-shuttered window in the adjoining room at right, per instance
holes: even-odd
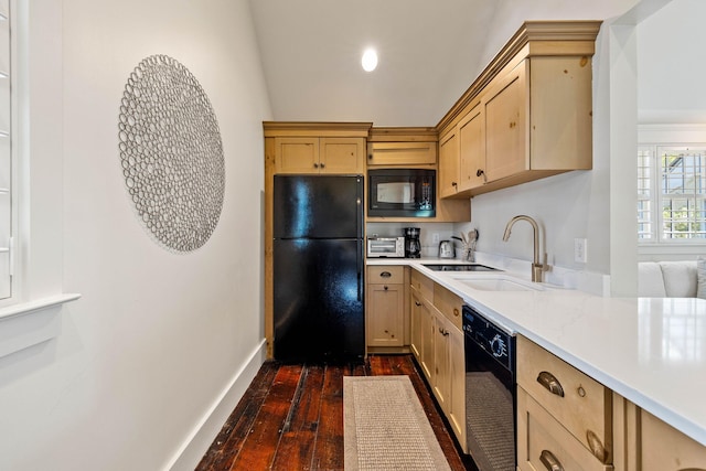
[[[706,244],[706,144],[638,148],[638,239]]]

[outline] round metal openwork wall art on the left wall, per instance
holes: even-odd
[[[196,78],[172,57],[145,58],[125,85],[118,128],[125,184],[145,227],[170,249],[201,247],[221,216],[225,162]]]

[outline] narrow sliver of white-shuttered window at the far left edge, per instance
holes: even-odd
[[[0,299],[11,290],[12,242],[12,87],[9,0],[0,0]]]

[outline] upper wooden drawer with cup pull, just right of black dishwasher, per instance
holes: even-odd
[[[610,389],[522,335],[517,335],[517,384],[600,461],[611,462]]]

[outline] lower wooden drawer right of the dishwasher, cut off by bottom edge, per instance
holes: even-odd
[[[517,468],[522,471],[613,469],[598,461],[522,387],[517,388]]]

